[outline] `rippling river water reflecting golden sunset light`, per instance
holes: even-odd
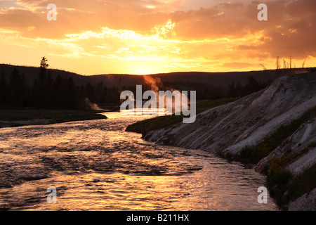
[[[277,210],[258,203],[254,169],[124,131],[145,116],[105,115],[0,129],[0,210]]]

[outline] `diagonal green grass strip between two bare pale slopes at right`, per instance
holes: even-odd
[[[310,108],[303,113],[301,117],[289,122],[288,124],[282,124],[272,134],[266,136],[261,142],[254,146],[246,146],[239,154],[234,155],[236,160],[242,162],[258,163],[262,158],[265,158],[272,150],[275,150],[285,139],[298,129],[304,122],[307,122],[311,118],[316,116],[316,106]]]

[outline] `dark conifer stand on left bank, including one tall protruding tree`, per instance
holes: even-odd
[[[58,75],[52,78],[47,59],[41,59],[39,75],[33,84],[27,84],[25,75],[15,68],[7,81],[0,78],[0,108],[88,109],[89,103],[118,105],[119,89],[98,84],[76,85],[72,77]],[[88,101],[87,101],[88,100]]]

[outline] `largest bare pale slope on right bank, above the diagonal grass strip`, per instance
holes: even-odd
[[[193,124],[150,131],[158,144],[237,153],[316,105],[316,74],[280,77],[267,89],[197,115]]]

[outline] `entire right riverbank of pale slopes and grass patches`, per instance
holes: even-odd
[[[310,204],[315,195],[309,195],[316,188],[315,84],[315,72],[280,77],[266,89],[197,114],[193,124],[140,129],[146,141],[256,165],[282,210],[316,210]]]

